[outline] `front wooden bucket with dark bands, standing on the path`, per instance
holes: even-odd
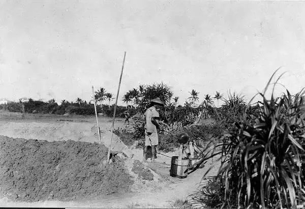
[[[170,176],[177,178],[186,178],[189,171],[189,159],[178,160],[178,156],[173,156],[171,159]]]

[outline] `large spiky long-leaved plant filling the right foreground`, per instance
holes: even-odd
[[[217,177],[223,183],[219,190],[222,207],[296,208],[305,202],[304,91],[292,96],[287,90],[278,98],[272,91],[267,100],[271,78],[258,94],[262,100],[257,103],[255,123],[250,123],[245,113],[236,121],[237,129],[218,145],[222,150],[202,159],[221,155]]]

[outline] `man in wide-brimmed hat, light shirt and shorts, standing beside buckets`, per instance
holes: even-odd
[[[159,112],[157,108],[164,106],[164,102],[160,98],[156,98],[150,101],[150,107],[144,113],[145,125],[145,147],[143,154],[143,161],[146,161],[146,154],[148,146],[151,146],[151,162],[155,162],[155,156],[157,155],[157,145],[159,144],[158,130],[161,131],[161,127],[158,124]]]

